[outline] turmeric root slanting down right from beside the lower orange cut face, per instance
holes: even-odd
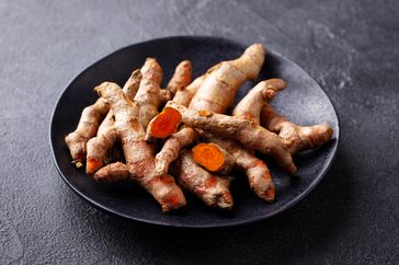
[[[251,189],[266,203],[275,198],[275,189],[271,173],[266,164],[254,154],[247,151],[239,142],[229,139],[221,139],[207,132],[201,134],[202,139],[215,142],[223,147],[233,158],[238,169],[246,172]]]

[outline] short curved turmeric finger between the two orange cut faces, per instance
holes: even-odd
[[[156,155],[156,174],[162,175],[168,173],[169,165],[179,158],[180,150],[197,139],[198,134],[192,128],[182,128],[176,134],[173,134]]]

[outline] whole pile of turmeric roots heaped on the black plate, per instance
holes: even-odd
[[[278,114],[270,102],[287,85],[281,79],[259,82],[226,114],[238,89],[258,79],[264,59],[263,46],[254,44],[193,81],[185,60],[161,89],[163,71],[147,58],[123,88],[104,82],[94,89],[100,97],[65,138],[73,163],[86,162],[87,174],[99,182],[136,182],[164,212],[186,205],[182,191],[207,206],[231,209],[235,170],[247,175],[260,199],[272,203],[273,177],[255,153],[294,175],[293,155],[324,145],[333,130],[328,124],[299,126]],[[114,155],[119,161],[110,161],[121,146],[123,155]]]

